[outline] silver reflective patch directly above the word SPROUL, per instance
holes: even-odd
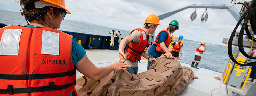
[[[59,33],[43,30],[41,54],[59,55]]]

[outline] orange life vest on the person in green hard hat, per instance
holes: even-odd
[[[161,32],[167,32],[168,33],[168,38],[164,41],[164,44],[166,47],[168,47],[172,41],[172,37],[169,33],[168,30],[162,30],[158,33],[158,35],[161,33]],[[159,42],[159,38],[158,38],[158,35],[156,36],[156,40],[154,42],[152,42],[152,44],[155,44],[156,45],[156,51],[157,52],[161,52],[162,54],[165,54],[164,50],[162,50],[162,48],[160,47],[160,45],[158,44]]]

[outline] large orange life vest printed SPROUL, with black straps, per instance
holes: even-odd
[[[53,28],[0,28],[0,94],[77,94],[72,38]]]

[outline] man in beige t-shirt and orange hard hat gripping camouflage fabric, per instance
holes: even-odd
[[[119,57],[124,59],[128,64],[126,69],[132,74],[138,73],[138,62],[141,56],[148,59],[148,61],[156,61],[155,58],[150,58],[145,51],[149,46],[149,34],[153,34],[159,24],[159,18],[155,14],[148,15],[144,23],[144,29],[134,29],[129,36],[124,37],[119,45]]]

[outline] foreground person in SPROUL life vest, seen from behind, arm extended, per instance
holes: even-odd
[[[57,30],[71,14],[64,0],[20,0],[20,5],[31,24],[0,28],[0,94],[74,96],[76,70],[99,80],[127,66],[121,60],[96,67],[73,36]]]

